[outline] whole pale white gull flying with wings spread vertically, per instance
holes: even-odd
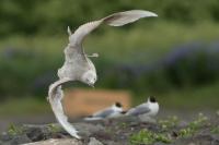
[[[80,81],[93,86],[97,78],[95,67],[82,48],[84,37],[103,23],[111,26],[122,26],[148,16],[157,16],[157,14],[143,10],[131,10],[114,13],[99,21],[81,25],[73,34],[68,27],[69,44],[65,48],[65,63],[58,70],[59,80],[49,86],[48,99],[57,120],[72,136],[80,138],[64,113],[61,106],[64,95],[60,86],[69,81]]]

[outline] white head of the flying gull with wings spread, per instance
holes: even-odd
[[[97,80],[96,73],[92,70],[85,72],[82,75],[82,82],[92,87],[94,87],[96,80]]]

